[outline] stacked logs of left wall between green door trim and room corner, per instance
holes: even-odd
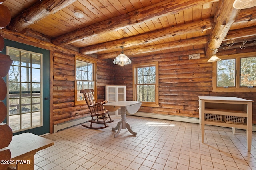
[[[90,115],[87,105],[75,105],[75,57],[72,54],[53,53],[53,125]],[[113,64],[97,62],[97,99],[105,100],[105,85],[112,84]],[[78,113],[76,115],[76,113]]]

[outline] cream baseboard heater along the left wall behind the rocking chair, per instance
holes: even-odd
[[[68,127],[71,127],[71,126],[74,126],[74,125],[84,123],[84,122],[86,122],[90,119],[91,119],[91,117],[89,115],[88,117],[82,117],[80,119],[74,119],[74,120],[66,121],[64,123],[53,125],[53,133],[56,133],[57,131],[59,131],[61,129],[65,129],[65,128],[68,128]]]

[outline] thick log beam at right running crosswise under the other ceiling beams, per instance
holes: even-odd
[[[222,41],[228,34],[228,31],[240,10],[233,8],[234,0],[220,0],[218,10],[214,15],[215,27],[210,35],[210,42],[206,47],[206,57],[210,58],[220,47]]]

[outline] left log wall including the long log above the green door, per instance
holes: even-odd
[[[77,51],[6,29],[0,29],[0,33],[6,39],[50,50],[50,133],[53,133],[53,125],[86,117],[90,114],[86,105],[75,106],[74,104],[75,55],[95,60],[97,63],[98,102],[105,100],[105,86],[115,84],[114,64],[110,59],[100,60],[89,57]]]

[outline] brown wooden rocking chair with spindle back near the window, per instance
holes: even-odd
[[[80,90],[80,93],[82,93],[84,95],[84,99],[89,107],[91,117],[92,117],[92,120],[89,120],[89,122],[91,122],[90,127],[86,126],[86,125],[82,125],[82,126],[87,127],[89,129],[103,129],[103,128],[108,127],[108,125],[106,125],[106,123],[113,122],[114,120],[111,120],[110,115],[108,114],[108,110],[104,109],[104,107],[103,107],[103,104],[107,103],[107,101],[105,100],[103,102],[95,102],[93,92],[94,92],[93,89]],[[109,121],[106,121],[107,119],[109,119]],[[104,124],[104,126],[103,127],[92,127],[92,123]]]

